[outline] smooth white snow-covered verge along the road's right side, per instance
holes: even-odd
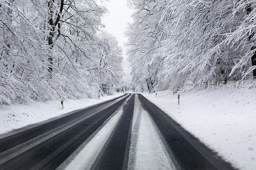
[[[256,167],[256,88],[143,94],[183,128],[240,169]]]

